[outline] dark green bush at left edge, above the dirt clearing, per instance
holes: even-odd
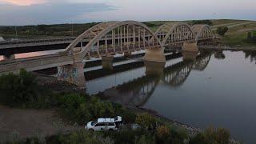
[[[20,70],[19,74],[0,76],[0,102],[6,106],[26,106],[38,99],[34,75]]]

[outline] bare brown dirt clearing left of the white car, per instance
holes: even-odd
[[[69,130],[73,130],[73,126],[63,124],[55,110],[23,110],[0,106],[0,143],[6,138],[12,139],[16,132],[20,138],[30,138]]]

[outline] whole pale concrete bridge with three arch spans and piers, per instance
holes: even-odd
[[[146,50],[145,61],[166,62],[164,46],[183,42],[184,50],[194,50],[198,40],[211,38],[212,33],[208,28],[208,26],[191,28],[182,22],[168,22],[154,33],[142,22],[102,22],[79,35],[58,54],[0,62],[0,73],[22,68],[32,71],[58,66],[59,80],[85,86],[83,60],[86,57],[111,61],[115,54],[131,54],[138,50]],[[186,48],[190,46],[192,49]]]

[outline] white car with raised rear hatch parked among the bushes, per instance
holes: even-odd
[[[98,118],[97,121],[88,122],[85,126],[86,130],[100,131],[100,130],[118,130],[119,123],[122,122],[122,117],[115,118]]]

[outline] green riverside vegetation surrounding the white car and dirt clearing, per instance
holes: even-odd
[[[175,144],[226,144],[230,143],[230,132],[212,127],[204,132],[192,135],[187,130],[173,126],[162,118],[148,113],[134,112],[119,104],[103,101],[97,96],[78,93],[54,93],[38,86],[34,74],[20,70],[19,74],[3,74],[0,76],[0,103],[20,108],[51,109],[57,108],[63,118],[84,122],[102,117],[122,116],[125,123],[138,123],[141,128],[110,132],[90,132],[74,130],[70,134],[55,134],[50,137],[19,139],[6,143],[175,143]],[[33,128],[32,128],[33,129]]]

